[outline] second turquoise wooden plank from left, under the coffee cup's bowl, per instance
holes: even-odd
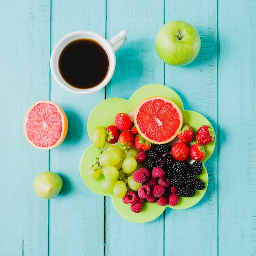
[[[52,2],[52,49],[67,33],[91,30],[105,37],[106,3],[96,1]],[[103,255],[104,198],[83,184],[79,162],[91,144],[87,119],[105,90],[77,95],[67,92],[51,78],[51,99],[67,114],[69,130],[63,144],[52,150],[50,168],[64,179],[64,191],[49,205],[49,255]],[[68,246],[67,246],[68,245]]]

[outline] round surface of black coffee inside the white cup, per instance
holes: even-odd
[[[63,79],[79,89],[92,88],[101,83],[108,66],[108,54],[91,39],[72,41],[63,49],[58,60]]]

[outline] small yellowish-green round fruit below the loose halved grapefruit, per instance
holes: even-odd
[[[61,177],[51,171],[39,173],[34,180],[34,190],[44,199],[54,198],[61,191]]]

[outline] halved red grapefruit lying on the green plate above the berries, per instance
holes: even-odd
[[[144,139],[165,144],[172,141],[182,128],[182,112],[170,99],[149,97],[135,109],[134,124]]]

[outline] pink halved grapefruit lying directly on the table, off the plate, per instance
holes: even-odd
[[[59,146],[67,135],[67,116],[53,101],[35,102],[26,112],[23,131],[29,144],[38,149]]]

